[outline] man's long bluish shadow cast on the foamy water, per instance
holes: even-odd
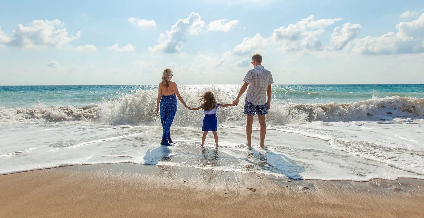
[[[298,165],[284,154],[275,154],[270,149],[264,149],[265,154],[255,150],[254,148],[251,148],[250,150],[251,153],[247,156],[248,162],[261,167],[263,170],[267,170],[272,173],[283,174],[289,179],[303,179],[299,173],[304,172],[305,167]],[[250,157],[258,159],[259,162],[249,160]]]

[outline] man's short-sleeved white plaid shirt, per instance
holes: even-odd
[[[249,70],[244,78],[249,84],[246,93],[246,101],[255,105],[264,105],[266,103],[266,92],[268,85],[274,83],[271,72],[263,66],[257,65]]]

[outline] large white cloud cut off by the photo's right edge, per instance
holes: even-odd
[[[423,53],[424,13],[417,20],[400,22],[398,32],[388,32],[382,36],[366,36],[354,46],[354,53],[365,55]]]

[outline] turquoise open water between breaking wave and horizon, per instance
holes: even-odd
[[[230,98],[241,85],[214,85]],[[198,94],[211,85],[181,85],[182,92]],[[87,106],[123,93],[157,89],[157,86],[0,86],[0,107]],[[424,98],[424,84],[407,85],[273,85],[274,99],[282,103],[353,103],[391,96]]]

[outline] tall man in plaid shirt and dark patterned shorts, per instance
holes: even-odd
[[[254,66],[252,70],[249,70],[244,78],[244,84],[240,88],[240,92],[237,95],[236,100],[233,101],[234,105],[238,104],[239,98],[247,89],[246,102],[244,105],[244,112],[247,116],[246,122],[246,137],[247,146],[251,147],[252,138],[252,124],[254,115],[258,115],[259,125],[261,126],[260,131],[260,143],[261,148],[264,147],[264,140],[266,134],[266,123],[265,115],[268,114],[268,109],[271,106],[271,84],[274,83],[271,72],[266,70],[262,66],[262,56],[260,54],[254,54],[252,56],[252,62]],[[266,98],[268,95],[268,99]]]

